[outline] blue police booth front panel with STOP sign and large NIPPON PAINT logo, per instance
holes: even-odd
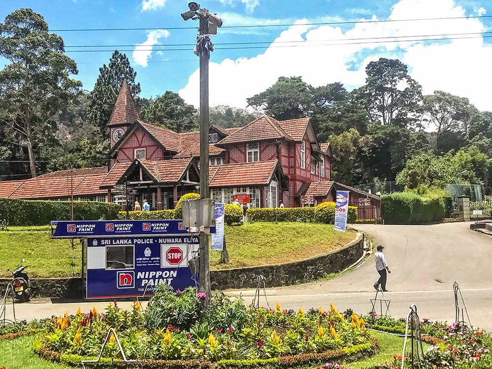
[[[166,283],[174,290],[198,283],[188,261],[198,255],[194,235],[98,237],[87,240],[87,299],[152,295]]]

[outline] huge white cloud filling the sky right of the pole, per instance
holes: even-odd
[[[425,14],[426,18],[467,15],[465,9],[457,6],[453,0],[400,0],[392,7],[389,19],[422,18],[422,14]],[[230,19],[234,20],[234,17]],[[372,19],[377,18],[373,16]],[[270,21],[277,22],[277,20]],[[300,24],[306,22],[307,20],[298,21]],[[433,41],[426,44],[421,41],[346,44],[361,42],[347,40],[349,38],[483,32],[484,30],[484,25],[476,18],[358,23],[344,32],[338,27],[331,26],[290,27],[282,31],[267,50],[255,57],[225,59],[220,63],[211,62],[210,104],[245,107],[247,97],[265,91],[277,81],[279,76],[302,76],[307,83],[314,86],[341,82],[348,89],[352,89],[365,83],[365,67],[368,62],[380,57],[398,57],[408,64],[410,74],[423,86],[424,93],[444,90],[468,97],[479,109],[492,110],[492,101],[486,90],[487,86],[492,84],[492,69],[489,67],[492,48],[484,47],[481,37],[453,39],[447,42]],[[410,39],[418,38],[421,37]],[[335,39],[345,41],[327,41]],[[290,44],[290,41],[299,42]],[[299,45],[303,47],[297,47]],[[378,54],[377,52],[380,51],[382,53]],[[395,54],[397,51],[399,54]],[[361,60],[362,58],[365,59]],[[186,102],[198,106],[198,86],[199,72],[196,70],[179,93]]]

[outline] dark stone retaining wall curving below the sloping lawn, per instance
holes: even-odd
[[[351,243],[335,251],[290,263],[210,272],[211,287],[217,289],[256,288],[258,276],[265,277],[267,287],[310,282],[329,273],[338,273],[354,264],[364,254],[364,234],[358,233]],[[10,279],[0,279],[0,292]],[[32,297],[55,299],[82,298],[81,278],[33,278]],[[2,294],[3,296],[3,294]]]

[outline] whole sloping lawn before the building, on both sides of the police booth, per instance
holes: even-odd
[[[305,259],[337,249],[355,238],[355,231],[335,232],[331,224],[246,223],[225,227],[229,263],[218,264],[220,251],[210,254],[211,269],[241,268]],[[9,227],[0,232],[0,277],[10,277],[26,259],[30,277],[72,277],[81,273],[81,245],[51,240],[48,226]],[[74,266],[72,267],[72,256]]]

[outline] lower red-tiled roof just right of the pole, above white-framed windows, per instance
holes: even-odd
[[[270,182],[277,160],[220,164],[210,167],[211,187],[265,185]]]

